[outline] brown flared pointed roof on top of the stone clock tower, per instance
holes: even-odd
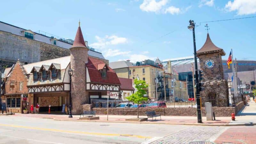
[[[224,52],[223,49],[217,47],[215,44],[212,43],[209,33],[207,33],[207,38],[206,38],[204,45],[202,46],[201,49],[199,49],[196,52],[196,54],[201,55],[201,54],[216,53],[216,52],[219,52],[221,54],[221,56],[226,55],[226,53]]]

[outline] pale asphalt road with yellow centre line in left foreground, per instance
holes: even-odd
[[[188,127],[0,116],[0,143],[148,143]]]

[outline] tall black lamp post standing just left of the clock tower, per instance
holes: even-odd
[[[193,31],[193,43],[194,43],[194,59],[195,59],[195,73],[196,73],[196,104],[197,104],[197,123],[202,123],[201,118],[201,104],[198,84],[198,69],[197,69],[197,58],[196,58],[196,39],[195,39],[195,23],[194,20],[189,20],[188,29]]]

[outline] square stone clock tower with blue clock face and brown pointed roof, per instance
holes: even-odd
[[[221,56],[226,53],[212,43],[209,33],[207,33],[206,41],[196,55],[199,58],[205,82],[205,89],[200,92],[202,105],[204,102],[212,102],[212,106],[228,106],[228,85],[224,79],[221,59]]]

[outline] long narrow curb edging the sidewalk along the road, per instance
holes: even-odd
[[[196,123],[154,123],[154,122],[122,122],[122,121],[89,121],[89,120],[66,120],[66,119],[56,119],[55,121],[73,121],[73,122],[101,122],[101,123],[132,123],[132,124],[166,124],[166,125],[197,125],[197,126],[253,126],[252,124],[196,124]]]

